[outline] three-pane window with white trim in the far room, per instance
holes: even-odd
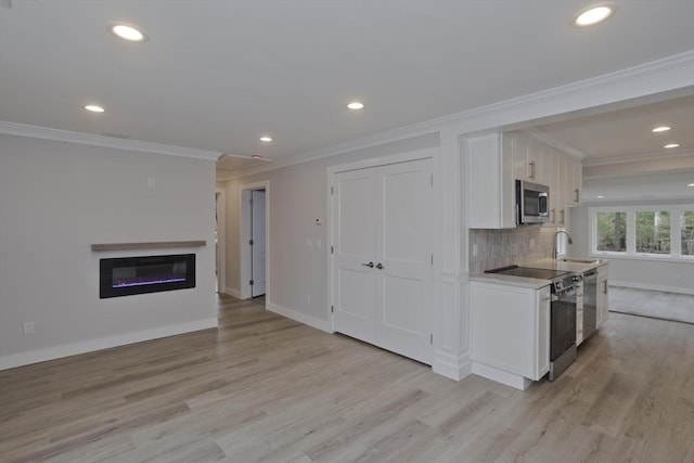
[[[694,259],[694,205],[590,208],[592,254]]]

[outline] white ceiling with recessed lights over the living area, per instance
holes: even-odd
[[[691,0],[611,1],[613,17],[583,29],[571,20],[592,1],[12,3],[0,8],[0,119],[275,159],[694,48]],[[115,38],[116,21],[149,41]],[[347,110],[352,99],[367,107]],[[92,102],[107,112],[85,112]],[[589,156],[609,136],[545,129]]]

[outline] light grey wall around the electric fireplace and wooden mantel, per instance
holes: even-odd
[[[214,214],[211,160],[2,134],[0,368],[216,326]],[[180,240],[208,244],[90,248]],[[197,255],[195,288],[99,299],[100,258],[175,253]]]

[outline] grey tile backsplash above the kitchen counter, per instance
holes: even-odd
[[[555,231],[539,226],[470,230],[470,273],[551,258]],[[477,256],[473,253],[475,245]]]

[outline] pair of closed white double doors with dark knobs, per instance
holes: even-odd
[[[333,177],[335,330],[432,362],[430,159]]]

